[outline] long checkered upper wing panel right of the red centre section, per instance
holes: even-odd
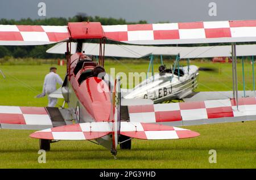
[[[102,25],[105,36],[130,44],[195,44],[256,41],[256,20]]]

